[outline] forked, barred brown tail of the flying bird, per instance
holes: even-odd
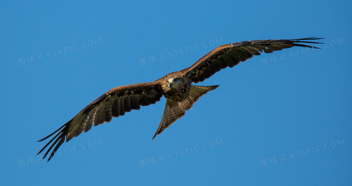
[[[168,128],[172,123],[175,123],[177,119],[184,116],[186,114],[185,111],[188,111],[189,109],[191,109],[193,104],[197,102],[200,97],[207,94],[210,90],[215,90],[218,87],[219,85],[215,85],[215,86],[192,85],[191,90],[189,92],[189,97],[186,100],[182,102],[167,100],[163,118],[161,120],[159,128],[156,131],[153,139],[155,138],[156,135],[161,134],[164,131],[164,129]]]

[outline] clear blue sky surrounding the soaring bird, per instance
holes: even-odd
[[[0,185],[352,185],[351,5],[2,2]],[[152,141],[165,98],[37,161],[49,141],[38,140],[116,86],[155,81],[222,44],[313,36],[326,38],[322,50],[255,56],[199,83],[220,86]],[[199,50],[180,54],[186,46]]]

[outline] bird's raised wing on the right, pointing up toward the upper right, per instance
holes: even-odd
[[[240,62],[245,62],[255,56],[259,56],[260,52],[272,53],[273,51],[291,48],[294,46],[309,47],[319,49],[314,46],[299,44],[299,43],[317,43],[305,40],[314,40],[323,38],[302,38],[302,39],[275,39],[275,40],[254,40],[242,41],[222,45],[209,52],[207,55],[200,58],[194,65],[182,70],[184,73],[189,73],[192,82],[199,83],[214,75],[214,73],[225,69],[232,68]],[[322,44],[322,43],[319,43]]]

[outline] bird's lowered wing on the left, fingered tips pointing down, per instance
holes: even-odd
[[[39,140],[43,141],[60,130],[39,153],[55,140],[43,156],[44,159],[56,144],[49,156],[49,161],[52,156],[54,156],[56,150],[64,143],[65,138],[66,142],[68,142],[82,132],[90,130],[93,123],[94,126],[108,123],[111,121],[112,117],[123,116],[126,112],[130,112],[131,110],[139,110],[140,106],[154,104],[160,101],[161,97],[161,84],[159,81],[119,86],[111,89],[87,105],[86,108],[81,110],[80,113],[55,132]]]

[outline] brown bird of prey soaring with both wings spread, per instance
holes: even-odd
[[[222,45],[200,58],[187,69],[169,73],[154,82],[113,88],[87,105],[55,132],[39,140],[43,141],[58,132],[39,153],[55,140],[43,156],[44,159],[56,145],[49,156],[49,161],[65,139],[68,142],[82,132],[90,130],[93,124],[97,126],[108,123],[112,117],[123,116],[131,110],[139,110],[140,106],[154,104],[164,96],[166,98],[165,111],[153,137],[154,139],[156,135],[161,134],[164,129],[184,116],[185,111],[188,111],[200,97],[219,86],[196,86],[191,83],[203,82],[214,75],[215,72],[227,67],[232,68],[240,62],[245,62],[247,59],[252,58],[253,55],[260,55],[260,52],[272,53],[273,51],[294,46],[319,49],[318,47],[304,44],[319,44],[312,41],[315,39],[323,38],[253,40]]]

